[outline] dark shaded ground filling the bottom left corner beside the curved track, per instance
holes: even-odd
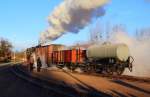
[[[11,67],[0,66],[0,97],[46,97],[41,88],[33,86],[11,72]],[[51,97],[51,96],[50,96]]]

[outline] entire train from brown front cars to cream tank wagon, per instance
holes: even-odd
[[[126,44],[95,44],[89,47],[80,46],[66,49],[64,45],[51,44],[27,49],[27,61],[31,56],[40,57],[42,64],[67,67],[74,71],[80,68],[84,72],[99,72],[109,75],[121,75],[125,68],[132,71],[133,57]],[[35,63],[36,64],[36,63]]]

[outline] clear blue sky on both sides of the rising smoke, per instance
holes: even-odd
[[[47,17],[63,0],[0,0],[0,37],[11,41],[15,49],[37,45],[39,34],[48,27]],[[78,34],[67,33],[53,43],[74,44],[89,39],[89,29],[102,25],[124,24],[130,35],[136,28],[150,27],[149,0],[112,0],[106,14]]]

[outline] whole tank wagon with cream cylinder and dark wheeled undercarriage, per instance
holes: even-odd
[[[133,57],[130,56],[126,44],[92,45],[87,49],[87,59],[90,69],[97,68],[108,74],[122,74],[125,68],[132,71]],[[94,64],[91,66],[91,64]]]

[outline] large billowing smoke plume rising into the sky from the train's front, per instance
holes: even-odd
[[[40,35],[40,42],[55,40],[66,32],[78,33],[93,19],[103,16],[108,0],[64,0],[48,17],[50,27]]]

